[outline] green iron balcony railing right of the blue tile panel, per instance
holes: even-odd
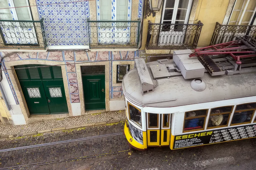
[[[88,21],[90,48],[138,48],[140,21]]]

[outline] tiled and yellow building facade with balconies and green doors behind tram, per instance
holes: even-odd
[[[255,36],[252,0],[1,0],[0,6],[1,85],[10,107],[0,118],[15,125],[125,109],[121,83],[135,57],[155,61],[173,50]]]

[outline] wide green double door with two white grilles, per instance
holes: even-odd
[[[16,70],[30,114],[68,113],[61,67],[38,64],[20,65]]]

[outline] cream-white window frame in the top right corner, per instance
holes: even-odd
[[[256,11],[256,7],[255,7],[254,10],[246,10],[250,1],[254,1],[254,0],[247,0],[247,2],[246,2],[246,0],[244,0],[241,9],[234,9],[234,7],[236,6],[237,0],[235,1],[234,5],[233,5],[233,8],[232,8],[232,11],[231,11],[231,14],[229,15],[229,19],[228,19],[228,23],[227,24],[229,24],[229,22],[236,22],[236,25],[241,25],[241,23],[248,23],[248,25],[250,25],[251,22],[252,22],[252,18],[253,18],[254,14],[255,14],[255,11]],[[231,16],[233,14],[233,11],[240,11],[240,13],[238,15],[238,18],[237,18],[237,21],[230,21]],[[253,12],[249,22],[242,22],[243,16],[244,16],[245,12]],[[241,18],[240,18],[240,16],[241,16]],[[239,20],[239,18],[240,18],[240,20]],[[256,21],[256,19],[254,20],[253,25],[255,24],[255,21]]]

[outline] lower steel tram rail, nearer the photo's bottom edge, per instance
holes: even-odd
[[[130,149],[121,150],[121,151],[113,151],[113,152],[107,152],[107,153],[102,153],[102,154],[79,156],[79,157],[59,159],[59,160],[54,160],[54,161],[46,161],[46,162],[39,162],[39,163],[33,163],[33,164],[12,166],[12,167],[7,167],[7,168],[0,168],[0,170],[21,169],[21,168],[28,168],[28,167],[33,167],[33,166],[49,165],[49,164],[59,163],[59,162],[76,161],[76,160],[87,159],[87,158],[95,158],[95,157],[101,157],[101,156],[107,156],[107,155],[114,155],[114,154],[126,153],[126,152],[132,152],[132,151]]]

